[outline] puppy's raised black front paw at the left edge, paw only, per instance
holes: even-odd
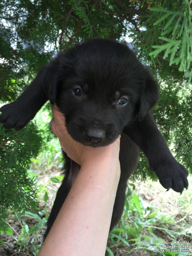
[[[5,129],[15,128],[17,131],[25,127],[29,122],[29,113],[27,114],[26,109],[20,108],[19,104],[12,102],[4,105],[0,108],[0,123],[4,123]]]

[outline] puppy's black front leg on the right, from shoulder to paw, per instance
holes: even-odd
[[[169,190],[182,193],[188,188],[188,172],[171,154],[163,135],[158,130],[151,113],[142,121],[135,120],[124,128],[126,133],[144,152],[152,172],[155,172],[161,185]]]

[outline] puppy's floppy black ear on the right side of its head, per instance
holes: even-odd
[[[159,97],[158,83],[151,74],[148,75],[142,87],[139,99],[139,121],[153,108]]]

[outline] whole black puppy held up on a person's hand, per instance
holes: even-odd
[[[101,147],[113,143],[121,134],[121,176],[110,229],[123,212],[127,180],[138,162],[138,147],[164,188],[180,193],[187,189],[187,170],[173,158],[148,112],[158,99],[157,82],[127,45],[93,39],[59,53],[16,101],[0,109],[0,122],[6,129],[22,129],[48,99],[64,114],[68,133],[77,142]],[[64,152],[63,155],[65,177],[45,237],[80,168]]]

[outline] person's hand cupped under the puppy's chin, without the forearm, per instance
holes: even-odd
[[[117,140],[114,143],[106,147],[92,148],[89,146],[84,146],[71,138],[65,126],[65,117],[57,109],[55,105],[52,106],[52,114],[53,114],[53,118],[50,121],[50,126],[52,128],[52,131],[54,135],[56,135],[59,138],[63,151],[73,161],[75,161],[79,165],[82,165],[85,161],[87,161],[92,157],[97,157],[97,158],[112,157],[114,159],[117,159],[118,161],[119,148],[120,148],[120,136],[117,138]]]

